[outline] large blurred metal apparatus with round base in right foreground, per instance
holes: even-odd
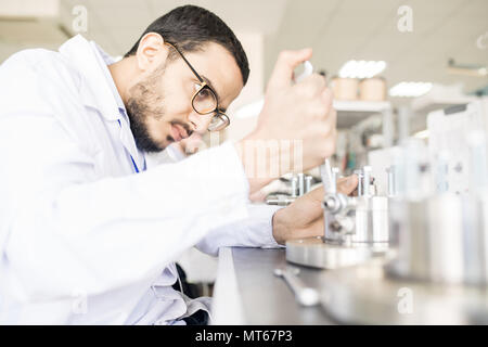
[[[323,273],[321,301],[330,317],[367,324],[488,323],[486,105],[458,108],[450,119],[452,110],[437,112],[447,118],[428,144],[436,151],[403,142],[388,179],[390,247],[398,252]],[[450,172],[460,163],[462,172]]]

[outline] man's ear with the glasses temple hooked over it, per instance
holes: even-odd
[[[147,33],[139,41],[136,59],[141,70],[147,70],[151,66],[159,66],[168,56],[168,48],[165,40],[157,33]]]

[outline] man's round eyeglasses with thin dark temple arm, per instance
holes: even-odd
[[[208,131],[220,131],[227,128],[230,124],[229,117],[221,111],[219,111],[219,103],[217,94],[208,86],[208,83],[198,75],[198,73],[193,68],[190,62],[184,57],[183,53],[172,43],[165,42],[165,44],[172,47],[178,54],[187,63],[188,67],[192,70],[195,77],[198,79],[197,85],[195,85],[195,92],[192,97],[192,107],[200,115],[208,115],[214,113],[214,117],[208,125]]]

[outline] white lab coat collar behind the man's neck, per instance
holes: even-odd
[[[80,90],[84,104],[99,110],[107,120],[120,119],[120,105],[105,78],[104,66],[100,64],[97,51],[90,42],[81,35],[77,35],[60,47],[60,53],[67,56],[84,77]],[[107,56],[106,53],[104,54]],[[121,106],[124,107],[124,104]]]

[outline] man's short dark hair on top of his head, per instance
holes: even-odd
[[[246,53],[231,28],[213,12],[194,5],[176,8],[151,23],[125,56],[136,54],[141,38],[147,33],[159,34],[183,53],[201,50],[207,42],[221,44],[235,59],[243,83],[247,82],[249,64]]]

